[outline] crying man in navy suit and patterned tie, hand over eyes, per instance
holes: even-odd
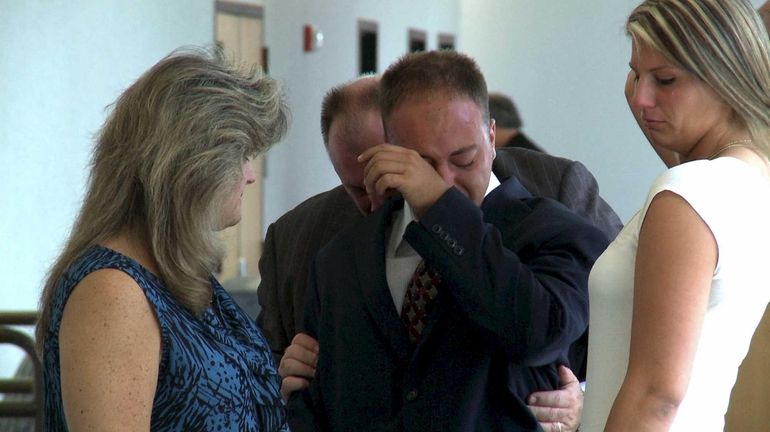
[[[494,122],[472,60],[409,55],[382,88],[395,145],[359,161],[373,207],[395,191],[403,199],[316,258],[305,321],[318,368],[290,401],[293,426],[536,430],[524,398],[557,388],[607,239],[515,178],[495,187]]]

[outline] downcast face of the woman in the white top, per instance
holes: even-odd
[[[653,145],[688,159],[729,130],[730,108],[708,85],[660,52],[634,42],[630,66],[626,97]]]

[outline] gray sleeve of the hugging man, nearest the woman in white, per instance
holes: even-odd
[[[577,214],[588,218],[610,239],[614,239],[623,228],[618,215],[599,196],[596,179],[580,162],[573,161],[564,170],[558,200]]]

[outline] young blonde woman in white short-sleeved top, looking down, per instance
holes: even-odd
[[[591,272],[581,430],[721,431],[770,300],[770,42],[747,0],[648,0],[626,29],[671,168]]]

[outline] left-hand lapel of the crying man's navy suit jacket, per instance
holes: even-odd
[[[412,352],[406,328],[393,305],[393,297],[385,277],[385,233],[395,210],[395,201],[363,220],[360,235],[355,243],[355,270],[361,287],[364,304],[374,326],[390,343],[402,362],[407,362]],[[374,240],[374,244],[372,241]]]

